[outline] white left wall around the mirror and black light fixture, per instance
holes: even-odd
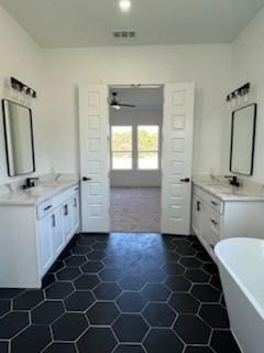
[[[36,173],[50,171],[45,137],[48,133],[43,116],[42,52],[33,40],[0,7],[0,99],[7,97],[4,82],[10,76],[29,84],[38,93],[33,109]],[[0,113],[0,185],[23,178],[9,178],[3,140],[2,110]]]

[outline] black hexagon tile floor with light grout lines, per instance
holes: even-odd
[[[42,290],[0,289],[1,353],[239,353],[196,237],[78,234]]]

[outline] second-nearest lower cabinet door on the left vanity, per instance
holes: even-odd
[[[59,255],[64,247],[64,233],[62,226],[62,212],[57,210],[51,216],[52,221],[52,244],[54,259]]]

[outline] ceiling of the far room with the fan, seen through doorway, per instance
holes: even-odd
[[[148,88],[147,86],[142,86],[141,88],[122,88],[122,87],[111,87],[110,88],[110,99],[111,93],[117,92],[117,99],[119,103],[135,105],[140,110],[161,110],[163,107],[163,88]],[[123,107],[122,109],[131,109]]]

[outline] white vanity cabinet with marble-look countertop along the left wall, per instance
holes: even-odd
[[[41,288],[79,228],[78,180],[52,181],[0,196],[0,287]]]

